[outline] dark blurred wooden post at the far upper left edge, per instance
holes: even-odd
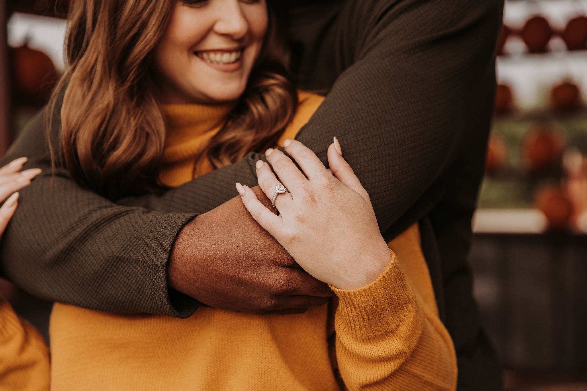
[[[8,86],[8,42],[6,22],[8,21],[6,0],[0,0],[0,156],[10,146],[10,89]]]

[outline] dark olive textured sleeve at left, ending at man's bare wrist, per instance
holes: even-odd
[[[43,169],[20,191],[2,234],[0,275],[37,297],[93,310],[193,314],[197,302],[167,287],[167,261],[194,211],[117,205],[77,185],[59,164],[52,175],[43,117],[33,118],[0,163],[26,156],[25,169]]]

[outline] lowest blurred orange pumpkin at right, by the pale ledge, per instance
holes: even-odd
[[[535,195],[535,205],[546,216],[548,227],[563,230],[569,227],[573,205],[569,197],[557,186],[545,185]]]

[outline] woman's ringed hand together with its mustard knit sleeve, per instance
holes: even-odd
[[[397,251],[390,254],[369,195],[342,158],[340,145],[328,148],[334,176],[301,142],[284,145],[303,174],[278,150],[266,155],[279,179],[268,164],[257,162],[265,195],[273,196],[278,183],[289,189],[276,197],[279,216],[247,186],[237,189],[255,220],[339,298],[335,346],[345,389],[456,389],[453,342],[434,298],[423,294],[432,292],[429,278],[414,274],[425,262],[419,233],[409,239],[410,227],[403,239],[389,243]]]

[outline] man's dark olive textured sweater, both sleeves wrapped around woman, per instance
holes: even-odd
[[[299,87],[329,91],[298,134],[326,161],[336,135],[369,192],[387,240],[420,222],[438,307],[458,355],[460,390],[501,388],[480,327],[467,252],[483,175],[502,0],[291,1]],[[2,237],[2,275],[33,295],[113,312],[187,317],[166,267],[181,228],[257,183],[259,155],[163,196],[114,203],[50,176],[43,113],[2,159],[45,172],[21,191]],[[59,131],[54,124],[53,134]]]

